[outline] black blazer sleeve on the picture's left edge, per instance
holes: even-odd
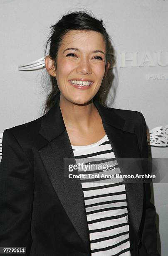
[[[33,168],[10,129],[6,129],[0,162],[0,247],[27,247],[29,255],[33,195]]]

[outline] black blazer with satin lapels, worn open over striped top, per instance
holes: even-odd
[[[80,179],[64,182],[63,159],[74,159],[74,154],[59,97],[47,114],[3,133],[0,247],[27,247],[30,256],[89,256]],[[148,158],[143,115],[94,104],[116,159]],[[119,167],[123,174],[124,166],[119,163]],[[125,187],[131,256],[158,255],[150,184],[126,183]]]

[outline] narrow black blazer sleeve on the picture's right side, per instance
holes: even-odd
[[[141,141],[140,151],[141,158],[148,158],[148,143],[146,135],[146,122],[142,113],[138,112],[141,116],[141,134],[139,140]],[[143,231],[142,241],[146,247],[148,256],[159,256],[157,251],[157,230],[156,230],[156,208],[150,202],[151,200],[151,185],[150,183],[144,183],[144,219],[143,219]]]

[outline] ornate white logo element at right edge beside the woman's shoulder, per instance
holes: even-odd
[[[168,147],[168,125],[153,128],[150,133],[150,146]]]

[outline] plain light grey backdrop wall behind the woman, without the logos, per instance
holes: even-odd
[[[120,67],[121,52],[128,57],[138,52],[140,62],[144,52],[154,57],[162,51],[162,61],[168,63],[168,0],[0,0],[0,133],[40,117],[47,95],[41,82],[45,70],[22,72],[17,68],[44,56],[49,26],[67,11],[80,8],[102,18],[114,42],[117,93],[113,104],[107,102],[109,107],[140,111],[149,130],[168,124],[168,80],[146,79],[146,74],[168,74],[168,66],[131,67],[127,61],[127,67]],[[151,147],[151,153],[153,158],[167,158],[168,147]],[[153,184],[162,256],[168,251],[167,193],[168,184]]]

